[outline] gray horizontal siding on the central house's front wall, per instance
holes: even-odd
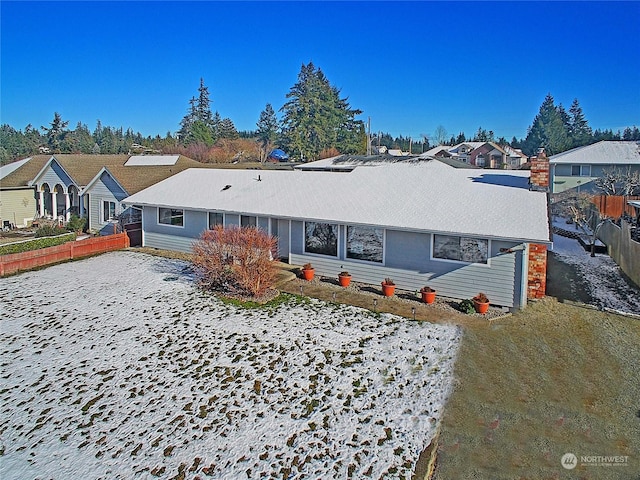
[[[266,217],[259,218],[258,225],[268,227],[267,220]],[[144,245],[190,252],[194,240],[207,228],[207,222],[207,212],[186,210],[184,227],[161,225],[158,224],[158,209],[144,207]],[[239,222],[239,214],[225,214],[225,225]],[[463,263],[433,259],[431,233],[386,230],[384,262],[380,264],[347,258],[345,225],[339,225],[336,257],[304,252],[304,222],[301,220],[277,219],[277,230],[280,255],[288,256],[293,265],[312,263],[318,275],[337,277],[339,272],[348,270],[355,282],[379,285],[390,277],[402,290],[417,291],[429,285],[443,297],[458,299],[484,292],[493,304],[523,306],[527,257],[522,251],[505,252],[518,245],[516,242],[490,240],[487,264]]]

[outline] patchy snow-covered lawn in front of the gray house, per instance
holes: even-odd
[[[410,478],[457,327],[242,309],[133,252],[0,279],[0,477]]]

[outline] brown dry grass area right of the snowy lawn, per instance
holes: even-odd
[[[548,298],[491,326],[467,325],[435,479],[555,479],[567,452],[628,455],[571,478],[640,472],[640,322]],[[569,477],[566,477],[569,478]]]

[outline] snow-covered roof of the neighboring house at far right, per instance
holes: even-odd
[[[640,165],[640,142],[603,140],[549,157],[549,163]]]

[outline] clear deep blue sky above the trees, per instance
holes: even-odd
[[[200,78],[255,129],[312,61],[372,131],[511,139],[551,93],[640,126],[640,2],[0,2],[0,123],[175,132]]]

